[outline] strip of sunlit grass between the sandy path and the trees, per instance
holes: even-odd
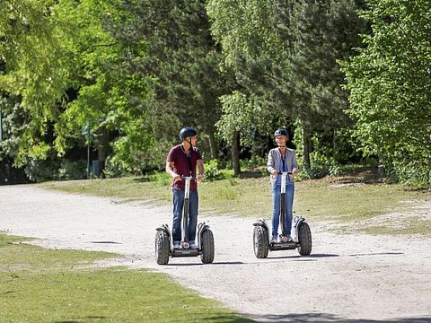
[[[251,218],[270,218],[272,197],[268,176],[261,171],[244,173],[241,179],[224,174],[227,179],[206,181],[199,185],[200,214],[232,214]],[[69,193],[110,196],[119,202],[142,200],[150,204],[171,205],[172,189],[167,175],[153,178],[92,179],[68,182],[50,182],[43,187]],[[331,221],[348,231],[349,225],[370,222],[374,216],[405,213],[412,206],[429,201],[429,192],[407,190],[401,185],[384,184],[372,170],[355,169],[337,178],[303,180],[295,184],[296,214],[309,222]],[[391,225],[370,230],[358,226],[355,230],[368,233],[422,233],[429,234],[430,219],[406,222],[404,230],[392,230]],[[360,229],[358,229],[360,228]],[[386,228],[386,230],[384,230]]]

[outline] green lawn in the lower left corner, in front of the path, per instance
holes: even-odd
[[[88,267],[113,254],[42,249],[23,240],[0,234],[1,322],[251,321],[164,274]]]

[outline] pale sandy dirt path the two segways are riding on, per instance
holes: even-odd
[[[202,295],[259,321],[431,322],[431,240],[339,236],[307,219],[312,255],[296,250],[257,259],[252,221],[199,215],[214,232],[216,258],[154,261],[155,227],[171,225],[171,208],[116,204],[32,186],[0,187],[0,231],[40,238],[59,249],[112,251],[112,263],[172,275]]]

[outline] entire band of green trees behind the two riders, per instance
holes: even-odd
[[[59,178],[86,144],[109,176],[159,169],[183,126],[198,128],[206,159],[230,159],[239,174],[241,158],[265,157],[287,127],[310,176],[365,153],[429,185],[425,0],[4,0],[0,10],[0,162],[29,176],[44,165]]]

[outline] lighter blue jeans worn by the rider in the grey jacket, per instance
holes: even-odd
[[[292,230],[292,206],[294,205],[294,194],[295,194],[295,184],[290,182],[286,183],[286,199],[285,199],[285,228],[286,234],[290,235],[290,231]],[[280,195],[281,195],[281,186],[274,185],[272,187],[272,202],[273,202],[273,210],[272,210],[272,236],[277,236],[278,233],[278,224],[280,223]]]

